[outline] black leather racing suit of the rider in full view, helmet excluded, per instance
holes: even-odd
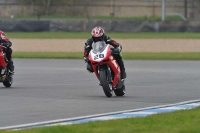
[[[103,36],[102,38],[102,41],[105,41],[106,44],[110,44],[111,46],[113,46],[114,48],[119,48],[121,52],[121,49],[122,49],[122,46],[117,43],[115,40],[112,40],[109,36],[105,35]],[[89,55],[89,52],[90,50],[92,49],[92,43],[95,42],[93,40],[92,37],[90,37],[86,42],[85,42],[85,47],[84,47],[84,57],[88,57]],[[122,78],[126,78],[126,72],[125,72],[125,67],[124,67],[124,62],[122,61],[122,57],[120,56],[120,53],[119,54],[114,54],[113,55],[114,58],[116,59],[117,63],[119,64],[120,66],[120,70],[121,70],[121,76]],[[91,67],[91,63],[88,61],[87,62],[88,65],[87,65],[87,69],[90,71],[90,72],[93,72],[93,69]]]

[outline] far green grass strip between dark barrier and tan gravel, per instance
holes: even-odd
[[[112,39],[200,39],[200,33],[191,32],[144,32],[144,33],[106,33]],[[33,39],[87,39],[91,36],[90,32],[6,32],[10,38],[33,38]]]

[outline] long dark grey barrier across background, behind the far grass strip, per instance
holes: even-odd
[[[101,26],[106,32],[200,32],[198,21],[134,21],[134,20],[87,20],[87,19],[51,19],[51,20],[0,20],[3,31],[64,31],[90,32],[95,26]]]

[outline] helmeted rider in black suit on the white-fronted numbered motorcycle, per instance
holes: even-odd
[[[124,62],[122,61],[122,57],[120,55],[122,46],[119,43],[117,43],[115,40],[112,40],[109,36],[107,36],[104,32],[104,29],[101,28],[100,26],[93,28],[91,34],[92,34],[92,36],[85,42],[85,47],[84,47],[84,57],[83,58],[84,58],[85,62],[87,62],[87,70],[89,72],[94,72],[91,62],[88,59],[89,52],[92,49],[92,43],[98,42],[98,41],[105,41],[106,44],[110,44],[114,47],[114,52],[117,54],[114,54],[113,56],[120,66],[121,78],[125,79],[126,72],[125,72]]]

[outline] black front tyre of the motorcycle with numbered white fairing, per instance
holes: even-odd
[[[107,97],[112,97],[112,85],[109,84],[108,75],[106,74],[106,70],[99,71],[99,79],[101,86],[103,87],[103,91]]]

